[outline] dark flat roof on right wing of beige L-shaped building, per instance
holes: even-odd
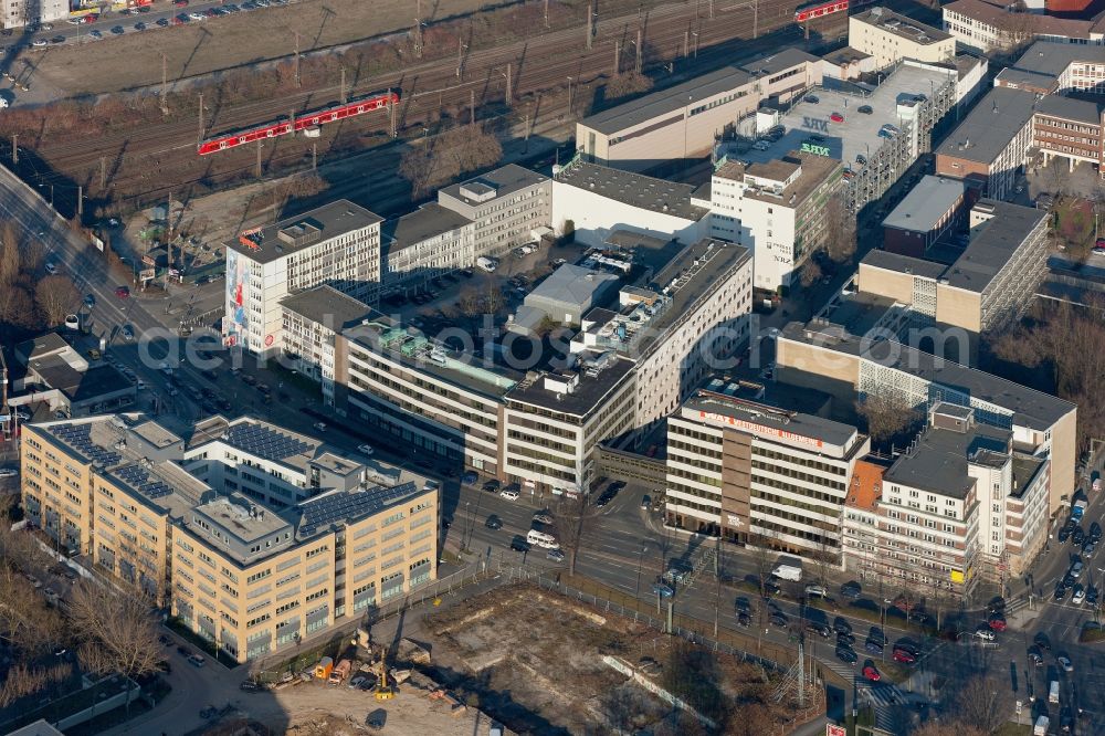
[[[992,208],[993,217],[980,225],[964,254],[944,273],[949,285],[978,293],[990,285],[1029,233],[1048,218],[1046,210],[992,199],[975,204],[975,209],[981,207]]]

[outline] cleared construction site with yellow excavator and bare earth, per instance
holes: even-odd
[[[776,733],[823,711],[808,666],[741,661],[650,621],[507,583],[361,630],[338,664],[284,673],[241,715],[276,708],[301,734],[322,733],[326,713],[350,725],[375,714],[394,733],[674,736]]]

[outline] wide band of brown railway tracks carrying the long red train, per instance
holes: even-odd
[[[705,4],[672,3],[641,15],[633,13],[600,20],[590,50],[585,49],[582,28],[559,30],[524,42],[476,50],[463,57],[461,78],[457,78],[455,59],[436,60],[372,77],[350,90],[350,96],[387,88],[400,90],[402,102],[397,111],[397,127],[400,133],[412,128],[421,130],[425,119],[442,109],[466,108],[473,97],[477,116],[483,119],[502,114],[505,70],[511,64],[514,97],[534,99],[535,118],[543,119],[547,115],[566,116],[568,111],[564,102],[556,98],[558,94],[559,97],[565,96],[564,87],[569,77],[573,87],[582,91],[613,71],[615,43],[621,46],[621,69],[632,69],[639,27],[643,29],[645,65],[653,70],[673,61],[681,71],[688,64],[709,69],[725,63],[733,50],[723,44],[750,35],[754,18],[761,38],[774,33],[776,42],[790,42],[800,35],[793,25],[794,7],[798,4],[796,0],[760,0],[755,9],[751,0],[715,0],[713,19],[707,17]],[[843,29],[846,18],[842,17],[841,21],[840,28]],[[779,34],[783,30],[787,32]],[[686,62],[682,61],[685,44],[690,55],[694,56]],[[756,48],[756,44],[750,43],[750,46]],[[739,51],[744,52],[745,49]],[[764,51],[770,51],[770,48],[765,48]],[[548,103],[537,96],[549,92],[556,102]],[[293,112],[322,107],[339,97],[338,85],[330,85],[283,96],[278,102],[259,101],[219,107],[206,120],[203,135],[209,137],[274,120]],[[586,113],[585,105],[589,103],[585,102],[583,95],[577,94],[572,114]],[[558,105],[559,109],[548,111],[549,104]],[[214,104],[208,103],[206,107],[210,109],[217,105],[218,101]],[[369,114],[364,117],[364,123],[358,120],[340,126],[337,135],[341,136],[349,128],[380,129],[388,126],[386,114]],[[48,144],[38,154],[61,177],[78,183],[90,183],[90,171],[98,169],[102,159],[106,159],[113,169],[112,187],[118,192],[140,191],[143,188],[169,189],[201,179],[209,182],[229,180],[255,166],[256,153],[252,147],[204,157],[218,160],[199,160],[200,157],[196,154],[199,137],[198,122],[181,120],[148,125],[137,130],[108,134],[95,139]],[[327,143],[333,143],[333,138]],[[304,150],[302,144],[277,144],[269,150],[266,164],[270,170],[274,166],[302,164]],[[322,154],[325,156],[326,151],[323,150]],[[176,180],[166,182],[164,187],[155,186],[150,170],[154,167],[162,167],[164,170],[170,166]],[[164,174],[154,170],[159,179],[165,179]]]

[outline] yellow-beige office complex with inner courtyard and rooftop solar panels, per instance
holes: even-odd
[[[304,435],[213,418],[186,443],[115,414],[23,438],[28,518],[239,662],[292,652],[436,576],[435,485]],[[399,482],[371,481],[381,474]]]

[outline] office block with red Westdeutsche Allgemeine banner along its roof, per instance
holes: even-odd
[[[669,418],[666,523],[839,561],[841,509],[869,438],[739,398],[741,388],[715,380]]]

